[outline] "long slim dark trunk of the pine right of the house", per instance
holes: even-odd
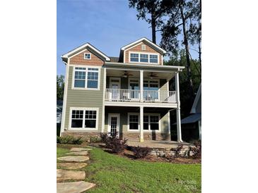
[[[183,33],[184,33],[184,48],[187,56],[187,82],[189,84],[189,97],[190,102],[192,103],[194,101],[194,86],[192,83],[192,70],[190,65],[190,56],[189,56],[189,45],[188,45],[188,39],[187,39],[187,30],[186,30],[186,23],[184,18],[184,11],[182,8],[182,4],[180,4],[180,12],[182,17],[182,25],[183,25]]]

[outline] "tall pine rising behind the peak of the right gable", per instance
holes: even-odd
[[[156,44],[156,32],[158,27],[163,23],[161,17],[163,9],[160,7],[160,0],[129,0],[129,8],[136,8],[138,11],[137,18],[146,20],[151,24],[152,42]],[[147,18],[146,14],[151,14],[151,18]]]

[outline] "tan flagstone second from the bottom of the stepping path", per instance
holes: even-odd
[[[86,177],[84,171],[72,171],[57,169],[57,182],[62,180],[84,180]]]

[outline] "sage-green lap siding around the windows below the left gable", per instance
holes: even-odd
[[[100,69],[100,90],[78,90],[71,89],[73,78],[73,66],[69,67],[69,80],[67,90],[67,102],[66,102],[66,116],[64,128],[69,128],[70,119],[70,107],[95,107],[99,108],[98,111],[98,131],[101,131],[102,127],[102,105],[103,105],[103,76],[104,69]]]

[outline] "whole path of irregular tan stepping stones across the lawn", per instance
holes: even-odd
[[[57,163],[58,167],[64,168],[57,169],[57,193],[81,193],[95,187],[95,184],[84,181],[63,182],[66,180],[84,180],[86,178],[85,171],[78,171],[74,169],[81,169],[87,166],[87,163],[84,162],[89,159],[89,157],[86,155],[90,150],[92,149],[73,147],[70,149],[71,152],[66,153],[71,156],[57,158],[59,161],[65,161],[64,163]]]

